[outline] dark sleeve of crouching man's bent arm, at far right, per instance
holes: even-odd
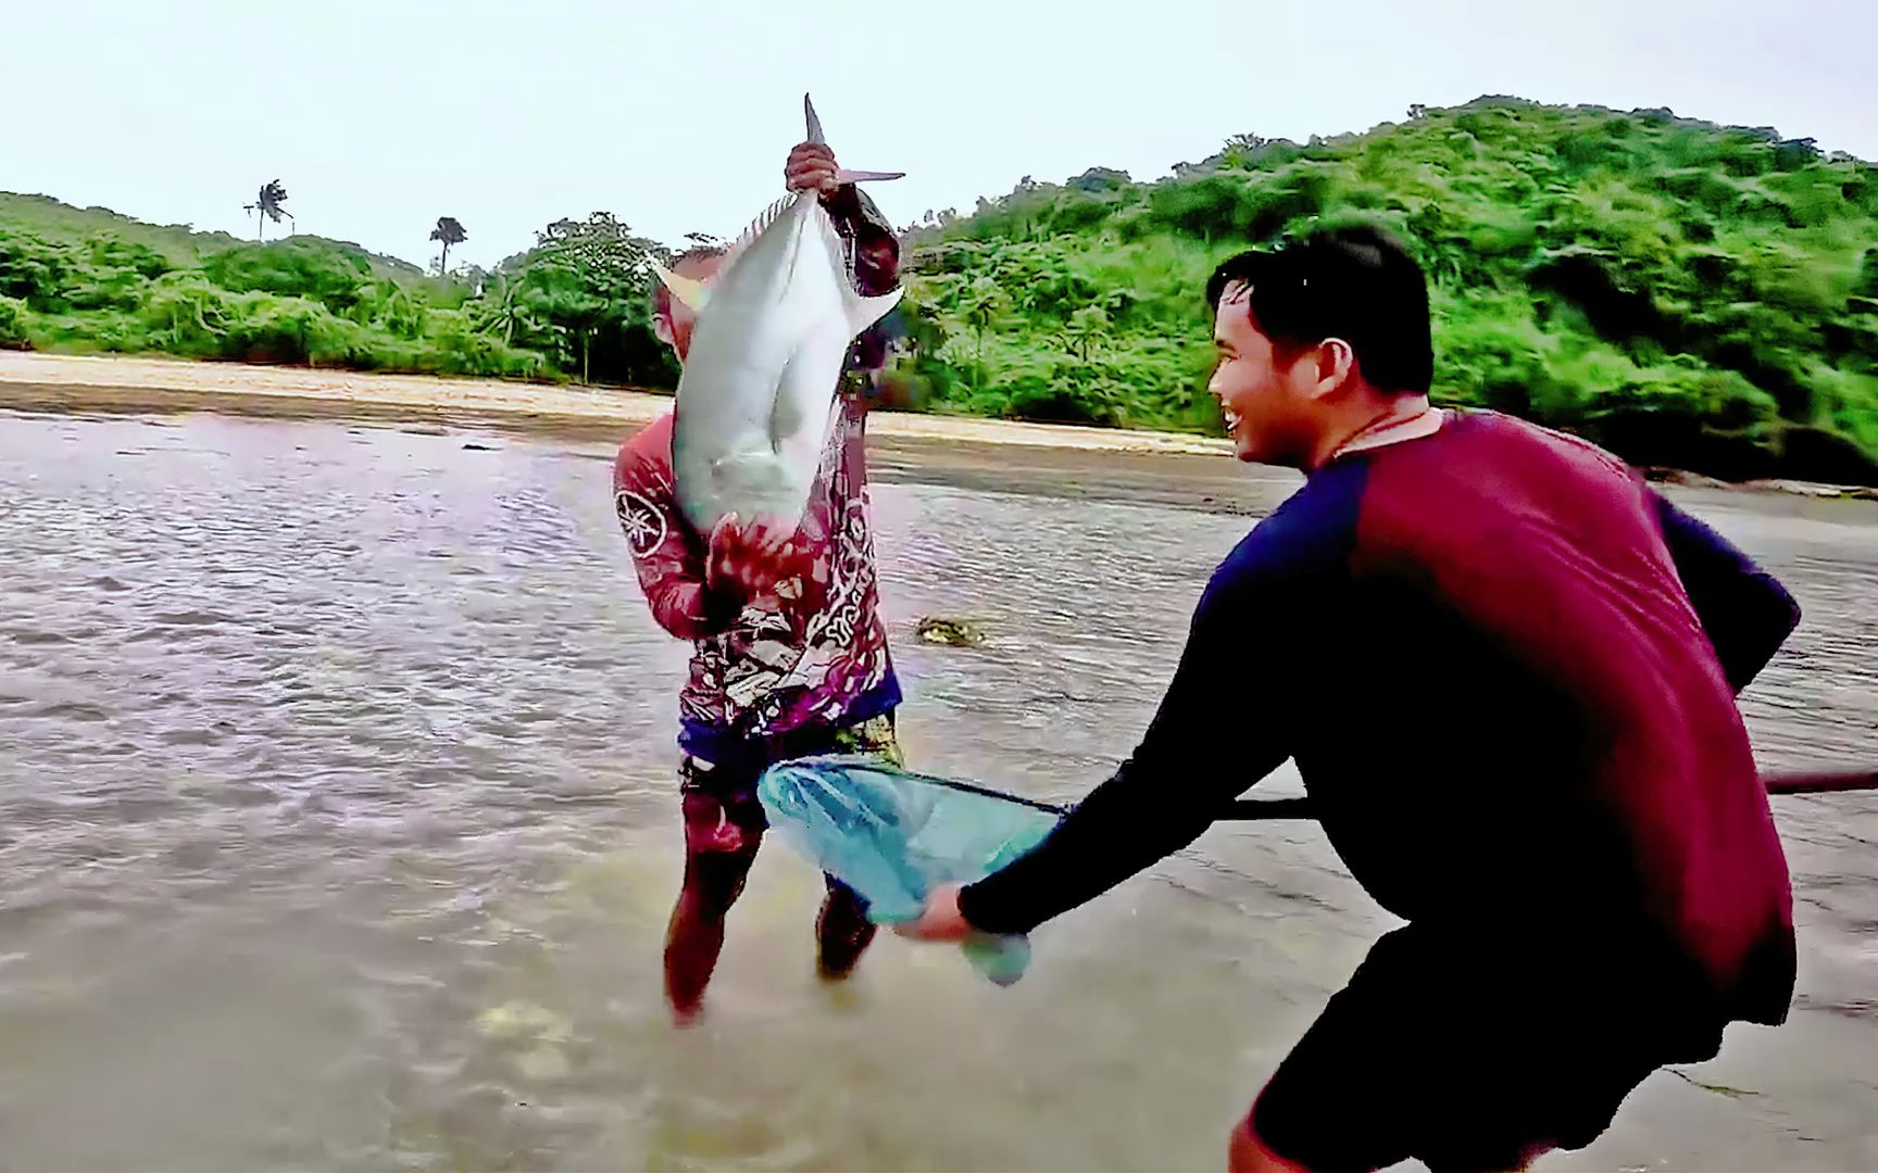
[[[1793,629],[1799,602],[1715,529],[1651,490],[1675,572],[1722,661],[1728,685],[1741,693],[1767,666]]]

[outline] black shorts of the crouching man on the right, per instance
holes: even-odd
[[[1641,968],[1641,967],[1638,967]],[[1720,1049],[1720,1023],[1626,955],[1384,935],[1253,1104],[1258,1139],[1309,1169],[1514,1169],[1583,1149],[1656,1068]]]

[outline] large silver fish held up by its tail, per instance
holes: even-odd
[[[808,141],[823,143],[808,94],[802,107]],[[841,171],[839,178],[901,175]],[[672,479],[685,520],[699,533],[727,512],[800,524],[847,349],[903,291],[854,291],[841,236],[815,191],[764,208],[708,282],[657,263],[654,270],[697,312],[672,411]]]

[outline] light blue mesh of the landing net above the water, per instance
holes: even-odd
[[[909,773],[870,754],[821,754],[770,766],[757,781],[770,826],[811,863],[868,899],[877,923],[918,918],[939,884],[969,884],[1037,846],[1063,816],[965,783]],[[963,942],[999,985],[1024,976],[1024,935]]]

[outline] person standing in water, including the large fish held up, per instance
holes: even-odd
[[[729,250],[659,267],[654,328],[684,366],[674,413],[622,445],[614,507],[654,619],[695,644],[680,693],[685,873],[665,993],[691,1023],[766,830],[757,777],[813,753],[900,760],[900,683],[877,614],[866,413],[900,297],[900,242],[808,107],[793,193]],[[834,876],[817,968],[873,938]]]

